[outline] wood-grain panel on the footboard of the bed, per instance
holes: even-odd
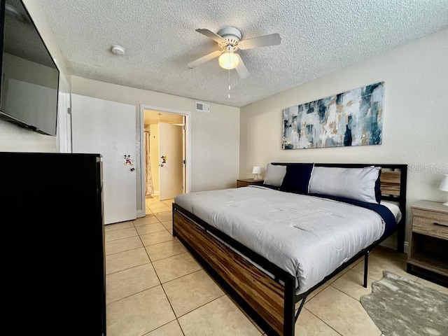
[[[176,235],[190,244],[279,335],[283,335],[283,286],[177,211],[174,211],[174,230]]]

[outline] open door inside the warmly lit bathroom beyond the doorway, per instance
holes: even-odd
[[[159,199],[183,193],[183,126],[159,123]]]

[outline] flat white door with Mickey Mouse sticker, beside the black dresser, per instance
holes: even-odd
[[[135,113],[133,105],[71,95],[73,153],[102,155],[104,224],[137,218]]]

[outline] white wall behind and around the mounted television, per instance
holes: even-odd
[[[66,108],[69,107],[67,94],[70,92],[70,72],[66,68],[62,53],[57,46],[55,36],[48,25],[48,21],[41,6],[34,0],[24,0],[25,6],[41,34],[50,54],[55,59],[59,69],[59,100],[58,100],[58,126],[59,121],[66,120]],[[59,130],[57,131],[59,132]],[[25,128],[0,120],[0,151],[6,152],[56,152],[59,151],[57,137],[38,134]]]

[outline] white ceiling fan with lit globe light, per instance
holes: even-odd
[[[196,29],[196,31],[216,41],[218,43],[219,50],[210,52],[209,54],[188,63],[188,67],[193,69],[195,66],[219,56],[219,65],[223,69],[236,69],[239,77],[241,78],[247,78],[249,76],[249,72],[247,71],[243,60],[235,51],[238,49],[247,50],[258,47],[266,47],[268,45],[277,45],[281,42],[281,37],[279,34],[270,34],[248,38],[247,40],[241,40],[243,34],[241,34],[241,31],[235,27],[225,27],[218,31],[218,34],[209,29]]]

